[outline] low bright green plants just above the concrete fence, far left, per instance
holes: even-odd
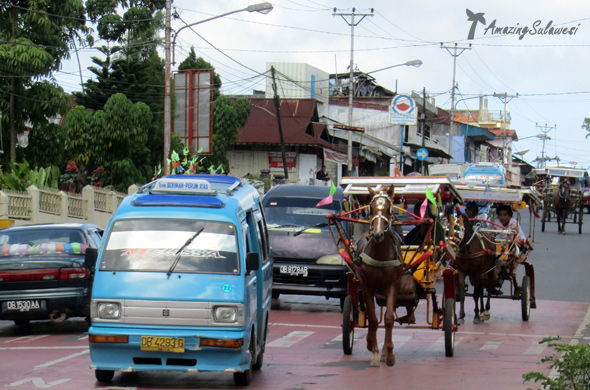
[[[10,171],[0,176],[0,188],[13,191],[26,191],[34,185],[37,188],[57,188],[59,169],[57,167],[31,169],[27,160],[12,163]]]

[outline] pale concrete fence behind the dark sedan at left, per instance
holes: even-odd
[[[136,185],[128,194],[138,190]],[[82,194],[30,186],[27,191],[0,191],[0,220],[4,226],[81,222],[106,228],[125,194],[86,186]],[[14,221],[14,222],[12,222]]]

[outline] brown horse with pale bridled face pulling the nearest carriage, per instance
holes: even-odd
[[[379,192],[369,187],[371,195],[370,225],[371,232],[366,233],[357,242],[359,254],[358,278],[360,281],[365,313],[369,321],[367,349],[373,353],[370,366],[379,367],[379,346],[377,328],[379,319],[375,311],[375,299],[385,301],[385,342],[381,361],[388,366],[395,364],[393,353],[392,330],[395,318],[396,297],[398,294],[398,274],[402,269],[400,240],[392,232],[394,186]]]

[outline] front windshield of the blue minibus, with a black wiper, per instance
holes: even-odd
[[[173,264],[176,273],[238,274],[235,226],[179,219],[120,220],[107,237],[99,269],[168,273]]]

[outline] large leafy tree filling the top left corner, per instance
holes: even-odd
[[[67,94],[51,79],[70,47],[92,42],[79,0],[16,0],[0,6],[0,110],[2,136],[16,159],[17,134],[63,114]]]

